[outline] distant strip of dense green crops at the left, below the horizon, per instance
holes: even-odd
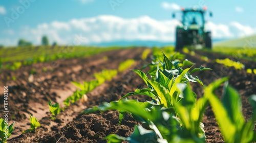
[[[120,47],[107,47],[107,48],[95,48],[95,47],[16,47],[16,48],[5,48],[0,49],[0,55],[12,54],[15,52],[20,52],[15,55],[15,57],[7,56],[0,58],[0,70],[10,69],[16,70],[22,65],[31,65],[38,62],[49,62],[57,59],[63,58],[78,58],[78,57],[88,57],[96,55],[101,52],[120,49]],[[83,51],[83,52],[80,52]],[[11,52],[11,53],[10,53]],[[10,58],[11,57],[11,58]],[[7,63],[11,62],[12,63]]]

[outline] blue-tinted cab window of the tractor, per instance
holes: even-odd
[[[197,11],[184,12],[183,25],[188,28],[191,25],[198,25],[200,28],[203,27],[203,14]]]

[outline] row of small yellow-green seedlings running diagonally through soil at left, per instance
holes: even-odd
[[[104,58],[105,59],[105,58]],[[119,65],[119,71],[123,71],[127,68],[129,68],[131,65],[135,64],[135,61],[132,59],[126,60],[124,62],[121,62]],[[65,110],[67,106],[70,106],[70,103],[75,103],[76,101],[79,101],[81,99],[81,102],[87,101],[87,93],[89,91],[92,91],[97,86],[103,84],[106,80],[111,81],[113,77],[115,77],[118,74],[117,69],[107,70],[103,69],[101,73],[95,73],[93,77],[95,77],[95,80],[91,81],[83,81],[83,84],[79,82],[72,82],[75,86],[79,87],[80,90],[76,90],[72,96],[68,97],[63,104],[66,105],[66,107],[63,107],[62,110]],[[58,115],[61,111],[61,108],[59,106],[59,103],[53,104],[51,100],[48,102],[50,112],[52,113],[52,120],[56,118],[56,115]],[[30,114],[29,114],[30,115]],[[7,122],[1,118],[0,119],[0,143],[6,143],[6,140],[11,136],[14,124],[11,124],[8,126]],[[37,121],[36,117],[32,117],[30,115],[30,129],[27,129],[23,131],[22,133],[36,131],[36,128],[40,127],[40,123]]]

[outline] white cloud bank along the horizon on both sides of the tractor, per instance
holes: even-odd
[[[20,37],[34,44],[41,43],[42,35],[47,35],[50,42],[58,44],[90,44],[111,42],[118,40],[154,40],[162,42],[175,41],[175,29],[180,25],[177,19],[156,20],[148,16],[138,18],[121,18],[113,15],[100,15],[97,17],[71,19],[69,21],[52,21],[40,23],[36,27],[22,27],[20,31],[6,30],[0,44],[15,45]],[[207,29],[212,31],[212,37],[237,38],[256,33],[256,27],[242,25],[233,21],[228,24],[208,21]],[[8,35],[12,34],[13,35]],[[3,34],[2,34],[3,35]],[[9,40],[5,42],[8,38]],[[75,43],[74,43],[75,42]]]

